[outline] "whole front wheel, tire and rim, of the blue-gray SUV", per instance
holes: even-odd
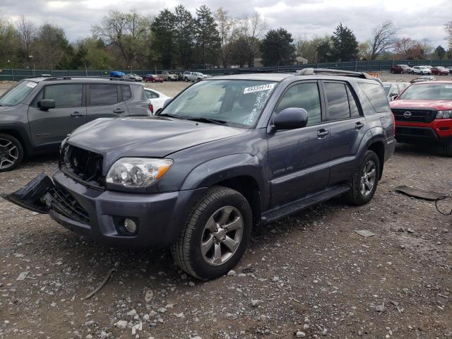
[[[221,218],[228,219],[222,222]],[[213,186],[191,210],[179,239],[172,245],[174,261],[198,279],[225,275],[246,250],[252,219],[251,208],[242,194],[227,187]],[[234,225],[237,229],[231,231],[221,225]]]

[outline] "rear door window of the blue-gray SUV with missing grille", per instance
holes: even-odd
[[[350,104],[348,102],[345,83],[324,83],[326,104],[328,106],[326,117],[328,120],[350,118]]]

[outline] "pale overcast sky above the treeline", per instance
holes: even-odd
[[[178,4],[192,13],[203,4],[212,10],[223,6],[237,17],[257,11],[270,28],[283,27],[294,36],[331,34],[342,22],[359,41],[369,39],[378,23],[392,20],[400,35],[427,37],[434,46],[444,47],[444,24],[452,13],[452,0],[0,0],[0,16],[14,21],[24,14],[38,25],[57,24],[74,41],[90,35],[91,25],[100,23],[108,11],[135,9],[155,16],[163,8],[173,10]]]

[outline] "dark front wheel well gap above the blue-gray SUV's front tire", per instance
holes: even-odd
[[[229,187],[240,192],[251,206],[254,224],[261,222],[261,193],[258,183],[253,177],[240,176],[218,182],[215,185]]]

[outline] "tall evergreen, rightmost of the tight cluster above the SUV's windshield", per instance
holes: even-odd
[[[215,18],[208,6],[196,9],[195,41],[197,64],[203,68],[214,66],[218,61],[220,49],[220,35]]]

